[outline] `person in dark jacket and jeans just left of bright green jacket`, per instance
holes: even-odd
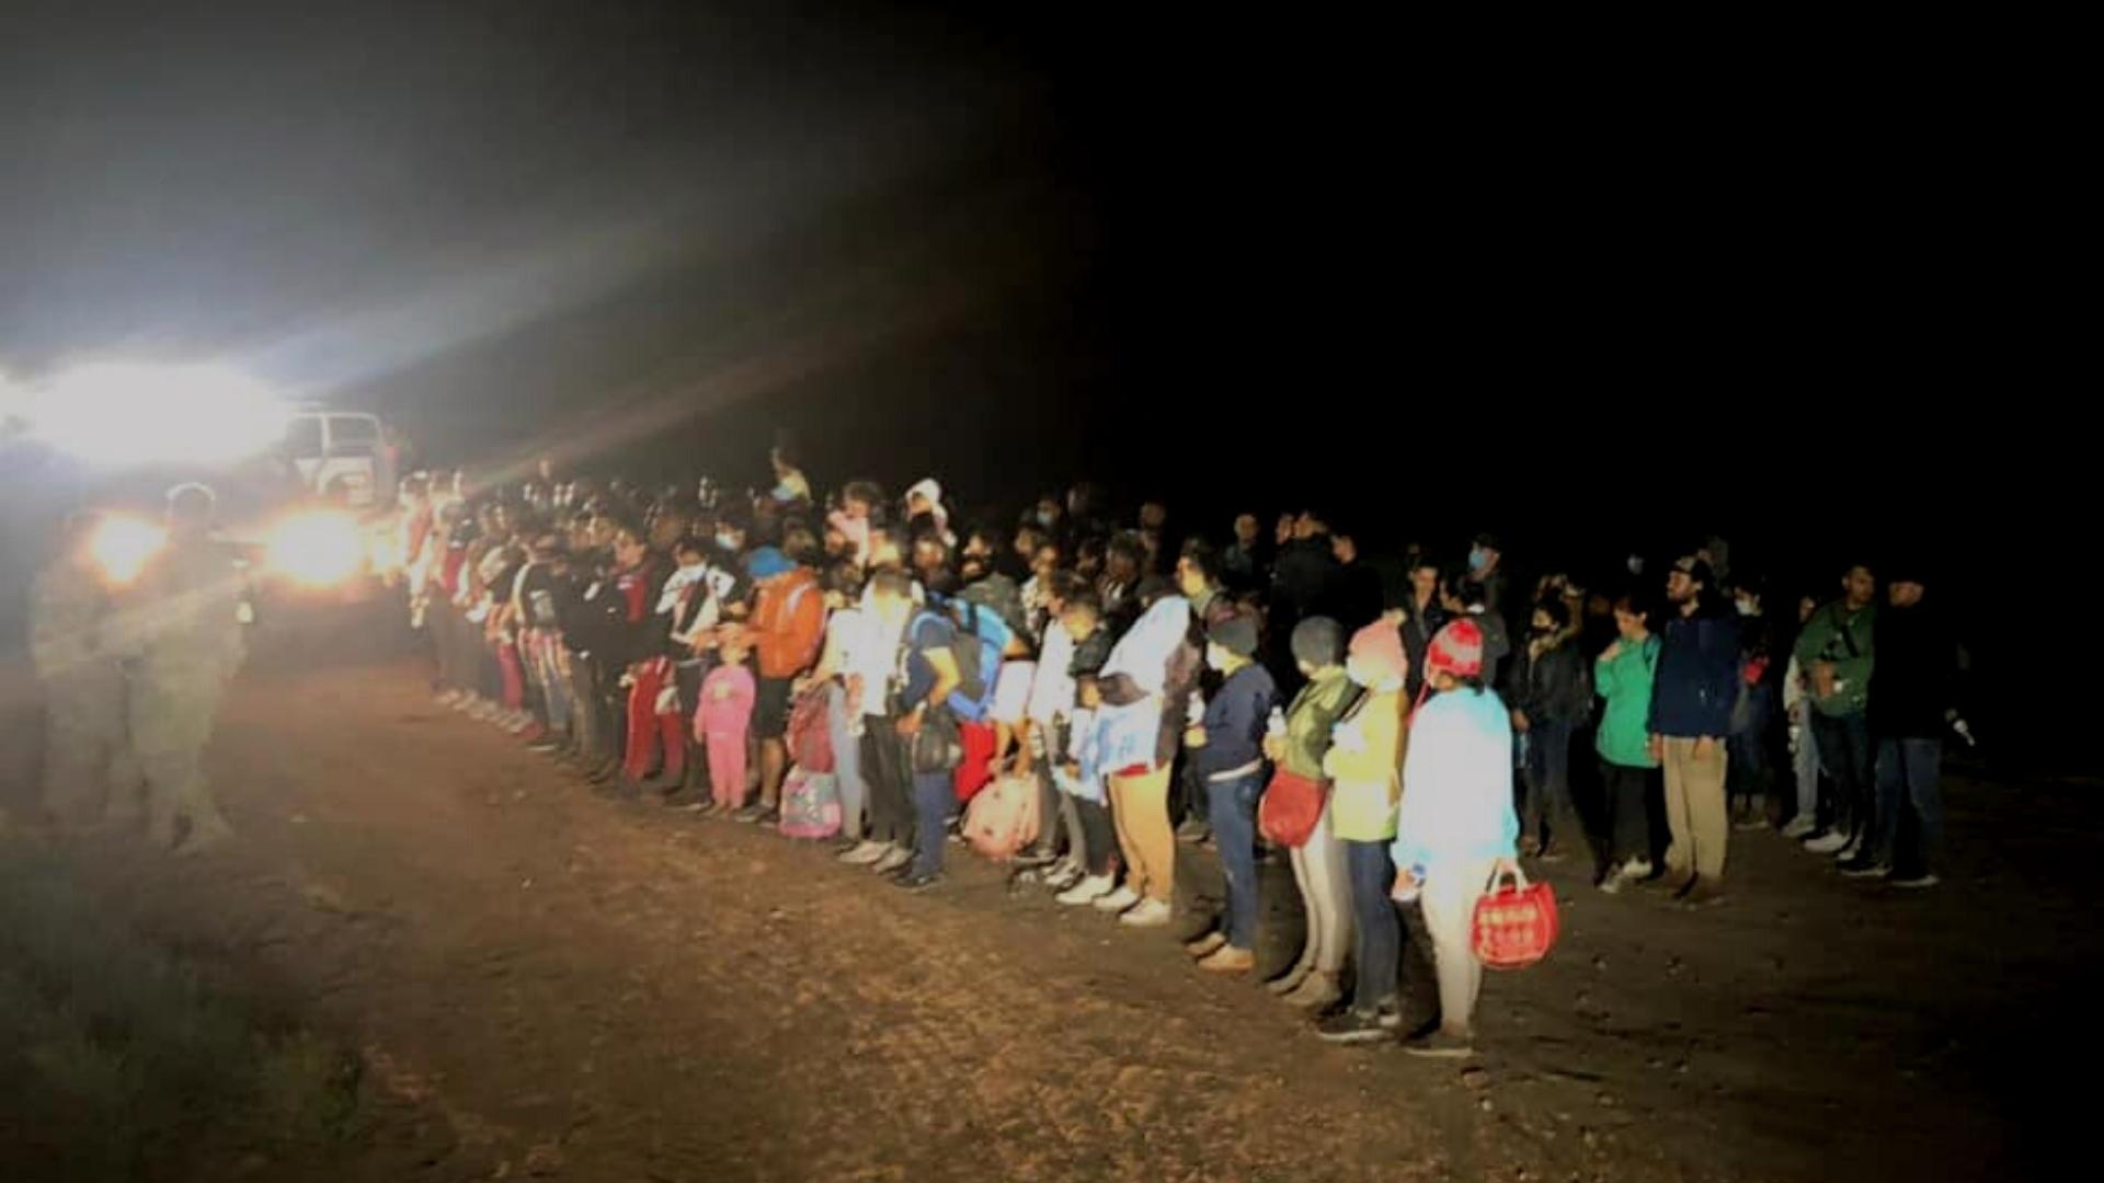
[[[1528,754],[1519,842],[1521,850],[1540,857],[1584,846],[1584,825],[1572,804],[1572,737],[1593,711],[1593,669],[1567,627],[1570,608],[1561,600],[1536,604],[1528,646],[1506,686],[1513,735]],[[1559,846],[1551,848],[1551,838]]]

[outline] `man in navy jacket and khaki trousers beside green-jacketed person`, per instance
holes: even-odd
[[[1687,556],[1666,575],[1673,613],[1652,684],[1652,756],[1666,768],[1666,886],[1692,903],[1717,899],[1725,842],[1725,739],[1738,699],[1738,621],[1719,604],[1717,577]]]

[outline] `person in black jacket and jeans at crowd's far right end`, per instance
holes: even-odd
[[[1841,865],[1843,874],[1889,876],[1894,886],[1910,888],[1936,886],[1944,836],[1942,735],[1950,726],[1965,735],[1957,709],[1965,650],[1923,596],[1919,570],[1891,568],[1889,610],[1875,625],[1868,707],[1877,743],[1877,836],[1866,857]]]

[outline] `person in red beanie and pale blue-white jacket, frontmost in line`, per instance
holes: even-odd
[[[1483,686],[1483,638],[1475,621],[1439,629],[1424,657],[1431,695],[1410,720],[1403,806],[1389,859],[1395,899],[1418,901],[1439,977],[1439,1023],[1403,1050],[1466,1057],[1475,1048],[1475,1000],[1483,964],[1471,928],[1475,903],[1494,874],[1517,874],[1519,819],[1513,815],[1513,724]]]

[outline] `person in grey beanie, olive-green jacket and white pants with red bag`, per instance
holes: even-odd
[[[1309,617],[1294,625],[1294,663],[1307,684],[1286,709],[1286,733],[1265,739],[1265,756],[1277,766],[1273,785],[1298,779],[1326,781],[1323,758],[1332,730],[1361,695],[1344,671],[1344,629],[1330,617]],[[1351,878],[1344,874],[1344,844],[1332,825],[1334,796],[1323,794],[1323,810],[1307,842],[1292,846],[1294,884],[1307,914],[1307,943],[1283,977],[1267,983],[1290,1006],[1319,1010],[1344,996],[1340,975],[1351,951]]]

